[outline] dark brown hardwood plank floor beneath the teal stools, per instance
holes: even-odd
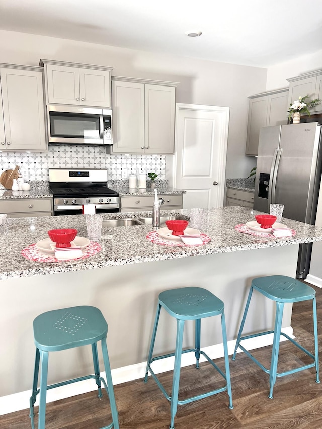
[[[322,290],[316,289],[319,320],[319,349],[322,362]],[[229,321],[227,321],[229,323]],[[293,306],[292,326],[298,341],[313,351],[311,301]],[[254,353],[255,354],[255,353]],[[256,356],[269,361],[270,347],[258,349]],[[306,362],[306,356],[295,346],[282,342],[279,370]],[[223,367],[223,360],[216,361]],[[322,383],[315,383],[314,369],[278,378],[274,398],[267,397],[266,375],[244,354],[230,360],[234,409],[228,408],[226,393],[178,407],[176,429],[321,429]],[[171,373],[160,375],[165,386],[171,386]],[[222,379],[221,379],[222,380]],[[209,364],[181,372],[181,398],[221,382]],[[170,406],[154,380],[136,380],[115,386],[121,429],[169,428]],[[110,422],[106,394],[99,400],[96,392],[47,404],[46,429],[96,429]],[[35,408],[37,411],[37,408]],[[35,418],[37,422],[37,419]],[[0,416],[2,429],[30,429],[29,411]]]

